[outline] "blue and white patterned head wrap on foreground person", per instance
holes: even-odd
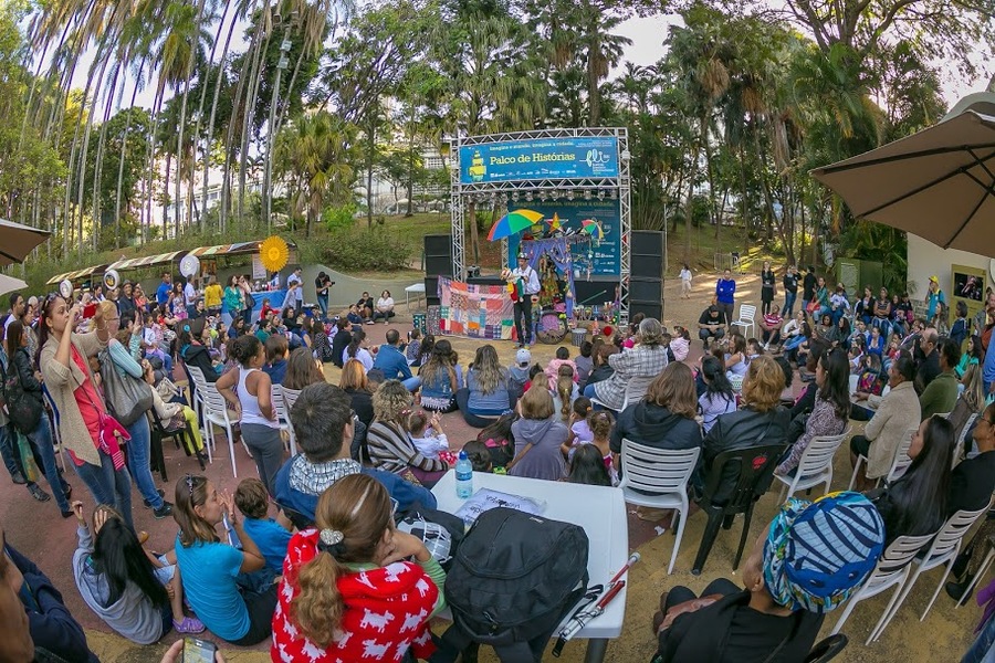
[[[829,612],[863,582],[883,547],[884,523],[860,493],[792,498],[764,543],[764,583],[779,606]]]

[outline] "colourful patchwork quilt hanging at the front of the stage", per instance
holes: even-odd
[[[440,276],[439,301],[443,335],[485,340],[514,337],[514,304],[503,285],[473,285]]]

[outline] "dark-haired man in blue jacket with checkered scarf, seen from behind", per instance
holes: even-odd
[[[301,514],[304,522],[314,522],[323,492],[343,476],[360,472],[384,484],[401,511],[416,504],[436,508],[436,498],[429,491],[397,474],[364,467],[350,457],[354,422],[348,396],[342,389],[327,382],[305,387],[291,408],[290,418],[301,453],[276,474],[276,503]]]

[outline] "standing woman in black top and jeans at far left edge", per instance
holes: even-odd
[[[35,410],[40,414],[38,423],[30,431],[20,430],[35,457],[41,459],[42,473],[49,480],[49,486],[52,494],[55,495],[55,504],[62,512],[63,518],[73,515],[69,504],[69,496],[72,494],[72,487],[59,474],[59,465],[55,464],[55,452],[52,446],[52,430],[49,428],[49,417],[44,411],[44,399],[42,398],[42,385],[39,381],[41,373],[35,372],[31,365],[31,357],[28,355],[28,332],[21,325],[20,320],[14,320],[7,326],[7,356],[9,364],[7,371],[13,373],[17,371],[18,381],[24,391],[24,398],[34,401]],[[49,496],[42,491],[36,483],[29,481],[28,490],[35,499],[39,495],[48,502]]]

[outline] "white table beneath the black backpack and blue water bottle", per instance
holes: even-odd
[[[629,525],[626,503],[618,488],[588,486],[519,476],[473,473],[473,490],[490,488],[546,502],[543,516],[579,525],[590,540],[587,557],[589,586],[607,585],[629,558]],[[454,514],[463,504],[455,494],[455,471],[449,471],[432,488],[439,509]],[[626,615],[626,592],[619,594],[577,638],[618,638]],[[556,639],[556,633],[553,634]]]

